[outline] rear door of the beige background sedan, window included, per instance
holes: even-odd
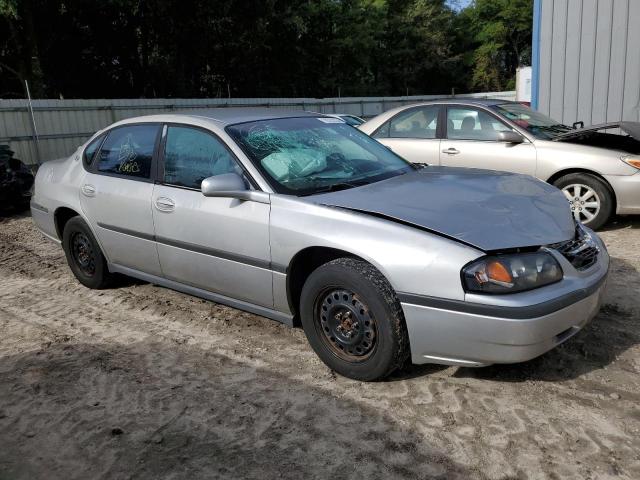
[[[412,163],[439,162],[439,105],[403,110],[373,133],[373,138]]]

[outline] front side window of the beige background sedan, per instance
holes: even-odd
[[[511,131],[495,116],[477,108],[447,108],[447,138],[451,140],[498,141],[499,133]]]

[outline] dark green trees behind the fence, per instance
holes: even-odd
[[[0,0],[0,96],[404,95],[503,88],[531,0]],[[9,72],[10,74],[5,74]]]

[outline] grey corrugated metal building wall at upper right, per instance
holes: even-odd
[[[539,1],[538,110],[569,125],[640,121],[640,0]]]

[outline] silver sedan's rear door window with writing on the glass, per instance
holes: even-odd
[[[126,177],[151,177],[159,125],[131,125],[111,130],[98,154],[97,170]]]

